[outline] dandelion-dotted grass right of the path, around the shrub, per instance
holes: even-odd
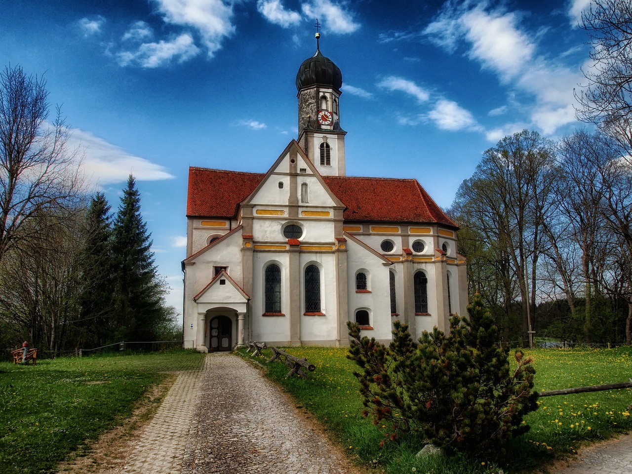
[[[415,455],[423,446],[420,437],[404,437],[380,447],[384,435],[370,419],[364,418],[359,384],[353,376],[355,366],[346,359],[344,348],[288,348],[289,353],[305,356],[316,371],[305,379],[286,379],[283,363],[265,363],[271,352],[264,351],[258,362],[269,369],[275,380],[296,399],[297,406],[315,416],[351,458],[393,474],[403,473],[515,473],[533,472],[552,459],[573,455],[584,442],[607,439],[632,430],[628,406],[632,390],[592,392],[541,398],[537,411],[526,423],[530,432],[507,446],[499,459],[466,459],[462,456],[424,459]],[[535,359],[535,384],[538,391],[568,387],[626,382],[632,375],[632,349],[536,349],[527,351]],[[250,355],[245,355],[251,358]]]

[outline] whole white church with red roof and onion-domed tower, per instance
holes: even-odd
[[[298,140],[267,173],[190,167],[185,346],[349,344],[346,322],[391,341],[466,314],[456,224],[416,179],[347,176],[343,76],[320,52],[296,74]]]

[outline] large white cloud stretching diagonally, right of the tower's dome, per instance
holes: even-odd
[[[580,8],[580,4],[581,0],[573,0],[571,9]],[[449,52],[463,44],[468,57],[493,71],[501,83],[533,97],[532,123],[526,126],[554,133],[574,121],[573,87],[580,82],[581,73],[555,59],[537,56],[538,45],[533,40],[537,32],[528,32],[520,25],[522,16],[502,7],[490,8],[485,1],[448,2],[424,33]],[[490,115],[505,110],[499,107]],[[501,129],[487,133],[495,138],[497,130]]]

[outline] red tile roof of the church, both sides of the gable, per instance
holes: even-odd
[[[190,167],[187,217],[236,217],[239,204],[264,178],[243,173]],[[347,209],[345,221],[426,222],[457,227],[416,179],[323,176]]]

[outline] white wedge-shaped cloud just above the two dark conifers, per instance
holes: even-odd
[[[70,132],[68,146],[71,149],[83,149],[81,169],[92,185],[125,183],[130,173],[133,173],[138,181],[174,178],[164,166],[131,155],[89,131],[74,128]]]

